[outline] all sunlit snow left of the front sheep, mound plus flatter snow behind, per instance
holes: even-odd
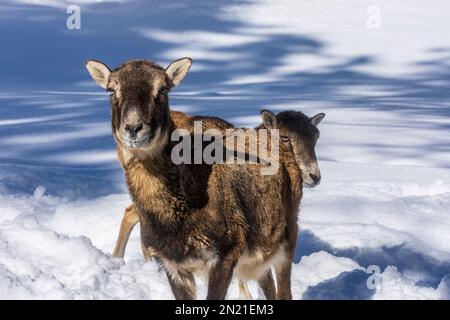
[[[127,196],[79,203],[7,196],[1,203],[9,214],[0,222],[0,298],[171,298],[155,264],[139,255],[125,264],[108,254]]]

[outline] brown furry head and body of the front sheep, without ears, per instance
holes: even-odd
[[[108,82],[115,90],[113,134],[144,247],[166,270],[177,299],[195,298],[193,273],[202,269],[209,277],[207,298],[223,299],[234,271],[239,276],[261,265],[254,276],[262,279],[275,263],[272,259],[285,250],[287,258],[277,261],[277,298],[291,298],[298,205],[294,198],[301,197],[301,187],[299,196],[292,197],[287,171],[292,161],[281,152],[273,176],[261,175],[264,164],[174,165],[168,140],[176,125],[164,92],[170,87],[164,70],[145,61],[125,63]],[[149,140],[130,147],[134,140],[124,141],[123,132],[136,118]],[[204,192],[192,201],[192,190]]]

